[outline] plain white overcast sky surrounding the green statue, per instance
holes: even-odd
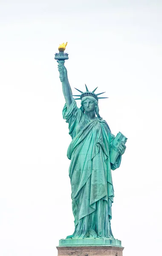
[[[162,241],[162,2],[0,1],[0,256],[54,256],[73,233],[68,125],[54,53],[74,87],[106,91],[100,115],[128,137],[113,171],[124,256]],[[78,102],[80,105],[80,102]]]

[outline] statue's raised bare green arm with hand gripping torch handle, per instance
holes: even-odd
[[[67,69],[64,66],[64,61],[58,62],[58,71],[60,72],[60,81],[62,82],[62,90],[64,93],[64,98],[67,103],[67,108],[72,104],[72,90],[69,84],[69,80],[67,77]]]

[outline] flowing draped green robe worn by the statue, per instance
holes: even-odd
[[[103,119],[87,119],[75,100],[69,109],[65,104],[63,118],[69,123],[72,137],[67,157],[71,160],[69,177],[75,232],[69,237],[84,238],[92,231],[98,237],[112,238],[110,220],[114,190],[111,169],[115,170],[121,163],[121,156],[116,163],[110,163],[114,135]]]

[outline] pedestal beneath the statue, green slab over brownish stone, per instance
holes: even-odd
[[[58,256],[123,256],[117,239],[61,239]]]

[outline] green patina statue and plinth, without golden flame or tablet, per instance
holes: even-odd
[[[121,246],[121,241],[114,239],[110,221],[114,190],[111,170],[119,168],[124,143],[116,148],[117,157],[112,162],[110,152],[115,136],[107,122],[99,115],[98,94],[80,91],[81,108],[72,97],[72,90],[67,77],[64,52],[55,55],[62,82],[66,104],[63,118],[69,124],[72,142],[67,151],[71,160],[69,177],[72,189],[72,211],[75,218],[75,230],[67,239],[60,240],[65,245],[114,245]],[[78,89],[77,89],[78,90]]]

